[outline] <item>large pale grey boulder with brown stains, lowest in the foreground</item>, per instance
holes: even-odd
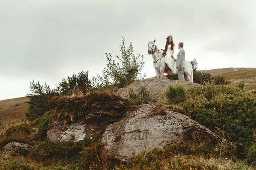
[[[153,147],[188,140],[217,141],[215,133],[188,116],[165,110],[161,105],[143,105],[109,125],[101,139],[107,153],[128,161],[133,152],[137,155]]]

